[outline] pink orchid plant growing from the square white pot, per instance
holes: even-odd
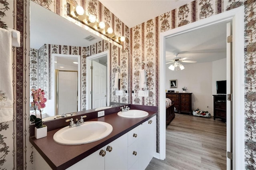
[[[31,106],[34,108],[35,114],[36,114],[36,107],[37,107],[38,111],[40,112],[40,120],[38,120],[38,121],[40,121],[40,126],[42,127],[42,111],[43,111],[42,109],[45,108],[45,106],[46,106],[45,103],[46,103],[47,99],[44,97],[44,95],[45,95],[44,90],[31,89],[31,91],[32,91],[31,96],[33,97]]]

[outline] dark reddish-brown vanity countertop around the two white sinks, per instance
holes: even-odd
[[[142,118],[124,118],[118,116],[117,112],[115,112],[109,115],[105,115],[104,117],[88,120],[106,122],[113,127],[113,131],[108,136],[96,142],[81,145],[57,144],[53,140],[53,135],[55,132],[60,130],[60,128],[49,131],[47,136],[44,138],[36,139],[34,136],[31,136],[30,142],[52,169],[66,169],[73,164],[76,164],[86,156],[96,152],[106,144],[119,138],[133,128],[137,127],[138,125],[142,124],[151,117],[154,117],[154,115],[156,115],[158,112],[157,107],[141,105],[130,105],[130,107],[131,109],[148,111],[149,114],[148,116]]]

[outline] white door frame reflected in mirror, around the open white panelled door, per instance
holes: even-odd
[[[92,70],[90,67],[92,66],[92,62],[90,62],[92,59],[100,58],[104,55],[107,55],[107,105],[110,103],[110,54],[108,51],[103,51],[101,53],[91,55],[89,57],[86,57],[86,110],[92,109],[92,101],[88,100],[91,99],[90,97],[90,91],[92,91]]]

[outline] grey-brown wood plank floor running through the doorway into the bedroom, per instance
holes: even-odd
[[[226,170],[226,123],[175,114],[166,128],[166,159],[146,170]]]

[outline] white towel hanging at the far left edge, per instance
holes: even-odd
[[[12,119],[12,32],[0,28],[0,123]]]

